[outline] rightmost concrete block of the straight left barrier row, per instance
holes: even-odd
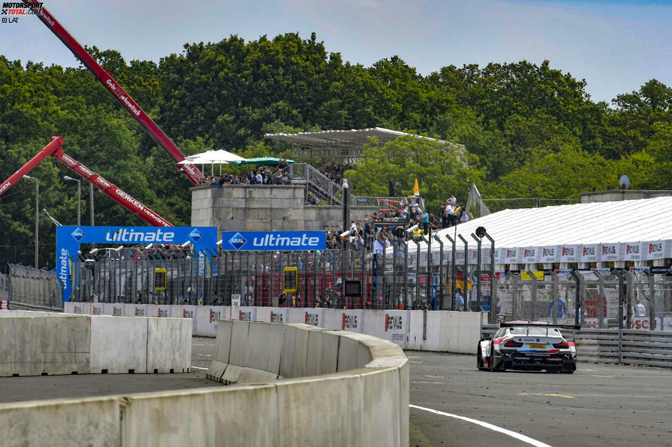
[[[191,370],[192,322],[188,319],[142,319],[147,332],[147,372]]]

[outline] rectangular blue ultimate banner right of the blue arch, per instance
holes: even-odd
[[[324,249],[324,231],[222,231],[222,250],[226,251]]]

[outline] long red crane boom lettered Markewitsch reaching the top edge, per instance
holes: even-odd
[[[36,5],[41,5],[42,3],[38,2],[37,0],[23,0],[23,3],[27,3],[30,5],[31,3],[36,3]],[[128,113],[131,113],[131,115],[139,122],[139,124],[146,130],[146,132],[156,141],[156,143],[161,146],[161,148],[164,148],[166,152],[174,159],[177,163],[180,161],[184,160],[184,154],[182,153],[177,146],[175,146],[175,143],[172,142],[172,140],[164,133],[159,126],[153,120],[142,110],[142,108],[131,98],[131,95],[128,95],[124,89],[115,81],[115,79],[112,77],[112,74],[100,67],[100,64],[96,61],[96,59],[92,58],[89,52],[80,45],[78,41],[75,40],[73,36],[67,30],[65,30],[65,27],[63,25],[60,25],[58,21],[52,16],[52,14],[46,10],[46,8],[41,7],[39,9],[38,14],[36,14],[40,20],[47,25],[47,28],[51,30],[54,34],[56,34],[56,37],[60,39],[63,44],[65,44],[66,47],[72,53],[78,58],[82,64],[85,65],[91,72],[96,76],[96,79],[100,81],[101,84],[103,84],[110,93],[113,94],[113,96],[117,99],[117,101],[122,104],[124,108],[126,108],[126,111]],[[189,180],[194,184],[198,185],[203,179],[203,174],[197,168],[196,166],[192,164],[183,164],[183,165],[178,165],[177,166],[182,172],[184,172],[188,177]]]

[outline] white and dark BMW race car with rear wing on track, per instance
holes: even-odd
[[[567,341],[560,329],[568,325],[551,325],[544,321],[508,321],[501,323],[492,339],[478,342],[476,358],[482,371],[523,369],[532,371],[576,371],[576,346]]]

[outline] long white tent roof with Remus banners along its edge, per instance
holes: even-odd
[[[543,251],[544,247],[573,246],[579,255],[585,254],[582,247],[592,247],[587,252],[597,251],[594,257],[585,257],[575,262],[594,261],[622,261],[622,260],[651,260],[662,257],[672,257],[672,197],[645,198],[640,200],[623,200],[617,202],[579,203],[576,205],[558,205],[551,207],[504,209],[488,216],[476,218],[457,227],[437,231],[436,234],[444,242],[444,251],[451,251],[451,243],[446,235],[455,238],[456,249],[464,251],[464,242],[454,235],[462,235],[469,242],[469,249],[475,249],[476,242],[470,236],[477,227],[484,227],[495,240],[495,257],[500,257],[500,264],[522,263],[503,262],[506,256],[503,249],[537,248],[535,252]],[[645,242],[661,241],[656,247],[649,247]],[[490,242],[483,239],[484,248],[490,247]],[[432,242],[432,251],[438,249],[436,242]],[[634,253],[631,247],[637,246]],[[412,246],[411,246],[412,247]],[[426,244],[422,244],[426,251]],[[606,247],[606,248],[605,248]],[[658,248],[664,253],[651,253]],[[554,250],[554,251],[556,251]],[[616,253],[614,253],[614,250]],[[412,247],[414,251],[414,247]],[[527,251],[524,251],[527,254]],[[520,254],[517,253],[519,256]],[[536,253],[539,257],[540,253]],[[641,259],[636,259],[641,255]],[[487,255],[489,256],[489,255]],[[655,256],[655,257],[654,257]],[[515,260],[515,259],[514,259]],[[530,260],[526,261],[530,262]],[[537,260],[537,262],[547,262]],[[558,259],[557,262],[565,262]],[[573,261],[568,261],[573,262]]]

